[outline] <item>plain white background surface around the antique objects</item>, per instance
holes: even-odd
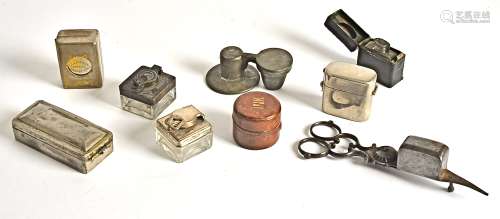
[[[379,87],[371,118],[320,110],[322,69],[355,62],[324,26],[343,8],[373,37],[407,54],[405,79]],[[499,4],[489,1],[0,1],[0,218],[498,218]],[[450,24],[440,13],[489,11],[489,24]],[[60,29],[101,32],[104,87],[61,87]],[[281,101],[282,136],[249,151],[231,137],[237,96],[212,92],[206,72],[229,45],[281,47],[294,57]],[[177,77],[162,115],[193,104],[215,125],[213,147],[177,164],[155,144],[153,122],[119,108],[118,85],[140,65]],[[263,90],[262,84],[256,90]],[[84,175],[18,143],[12,118],[44,99],[111,130],[115,151]],[[332,119],[363,144],[396,148],[407,135],[450,147],[448,167],[490,192],[295,153],[305,129]]]

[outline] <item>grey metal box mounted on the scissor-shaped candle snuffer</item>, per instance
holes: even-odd
[[[448,146],[430,139],[408,136],[398,152],[400,170],[427,178],[441,180],[448,163]]]

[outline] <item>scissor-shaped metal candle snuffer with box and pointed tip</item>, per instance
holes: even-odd
[[[313,130],[317,126],[330,127],[336,130],[338,134],[331,137],[319,136]],[[449,182],[449,192],[453,192],[453,184],[456,183],[476,190],[483,195],[488,195],[481,188],[447,169],[449,148],[440,142],[417,136],[408,136],[398,151],[390,146],[377,147],[375,144],[370,147],[361,146],[356,136],[342,133],[340,127],[332,121],[316,122],[311,125],[309,131],[313,137],[302,139],[298,145],[298,152],[304,159],[326,156],[335,158],[358,157],[368,164],[395,168],[429,179]],[[351,142],[347,152],[335,152],[335,147],[338,146],[342,139]],[[318,144],[322,151],[318,153],[307,152],[303,148],[303,144],[306,142]]]

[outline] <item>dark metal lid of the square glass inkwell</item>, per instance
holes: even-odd
[[[175,77],[163,72],[158,65],[141,66],[119,88],[120,95],[154,105],[171,89],[175,89]]]

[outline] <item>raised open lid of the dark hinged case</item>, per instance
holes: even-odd
[[[342,9],[326,18],[325,26],[352,52],[365,39],[370,38]]]

